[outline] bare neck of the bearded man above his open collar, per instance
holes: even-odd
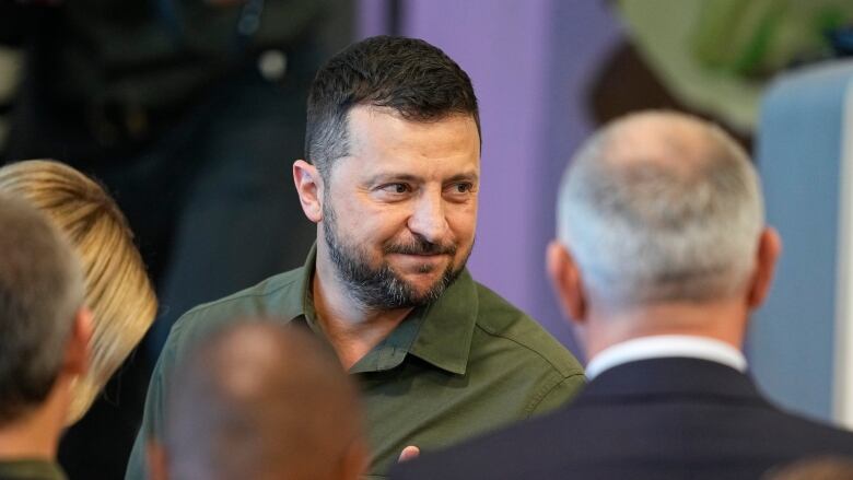
[[[317,321],[341,364],[349,370],[384,340],[412,311],[365,308],[347,293],[328,261],[317,258],[312,293]]]

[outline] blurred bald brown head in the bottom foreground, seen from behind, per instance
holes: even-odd
[[[174,382],[170,478],[343,479],[361,445],[348,375],[299,327],[257,319],[226,327],[191,351]]]

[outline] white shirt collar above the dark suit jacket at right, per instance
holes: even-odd
[[[687,335],[657,335],[627,340],[601,350],[586,364],[586,377],[592,379],[623,363],[667,356],[709,360],[738,372],[746,372],[747,365],[744,354],[723,341]]]

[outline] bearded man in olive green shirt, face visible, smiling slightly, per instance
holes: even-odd
[[[422,40],[369,38],[320,69],[307,110],[306,160],[293,178],[316,247],[303,268],[175,325],[129,479],[143,478],[142,449],[161,436],[163,398],[187,346],[238,316],[283,317],[337,353],[360,387],[372,476],[404,449],[408,457],[549,411],[584,383],[566,350],[465,269],[480,128],[470,79],[452,59]]]

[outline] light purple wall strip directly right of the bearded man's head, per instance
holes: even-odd
[[[535,250],[539,206],[537,169],[547,118],[550,1],[406,2],[402,32],[444,49],[474,81],[482,119],[482,186],[477,247],[470,260],[476,278],[521,306],[536,296],[541,274]],[[484,10],[489,5],[491,10]],[[533,261],[531,261],[533,260]]]

